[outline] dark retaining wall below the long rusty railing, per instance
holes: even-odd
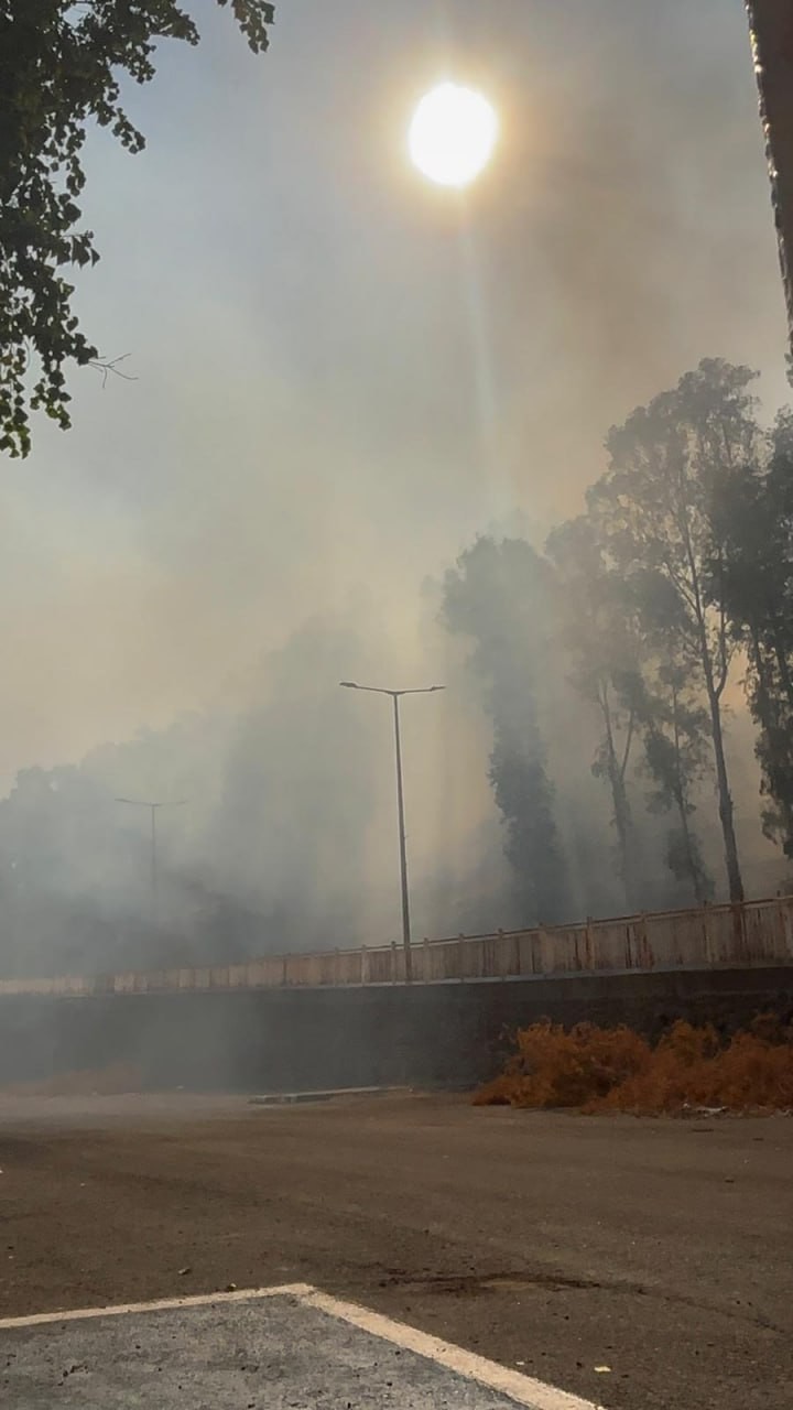
[[[724,1029],[793,1015],[793,967],[587,976],[502,983],[0,998],[0,1087],[131,1063],[145,1087],[312,1090],[457,1084],[490,1076],[507,1034],[543,1015],[674,1018]]]

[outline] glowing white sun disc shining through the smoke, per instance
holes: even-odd
[[[440,83],[426,93],[411,123],[415,165],[439,186],[467,186],[487,166],[498,137],[495,109],[474,89]]]

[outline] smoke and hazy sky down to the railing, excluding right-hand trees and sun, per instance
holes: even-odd
[[[416,935],[521,924],[444,574],[515,513],[542,547],[607,427],[701,355],[785,395],[741,6],[296,0],[262,61],[203,28],[130,93],[147,152],[90,145],[80,314],[137,381],[76,376],[75,430],[40,427],[0,491],[6,971],[398,936],[388,704],[339,691],[356,675],[449,687],[405,705]],[[404,152],[447,72],[502,114],[464,200]],[[603,914],[624,897],[563,673],[535,702],[560,914]],[[768,890],[738,689],[732,709]],[[117,794],[189,799],[162,814],[157,926],[147,818]]]

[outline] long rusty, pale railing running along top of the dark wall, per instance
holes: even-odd
[[[793,966],[793,897],[653,911],[580,925],[459,935],[412,946],[415,984],[594,973]],[[274,955],[241,964],[0,980],[4,994],[159,994],[404,984],[401,945]]]

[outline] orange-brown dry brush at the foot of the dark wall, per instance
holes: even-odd
[[[655,1046],[629,1028],[543,1021],[523,1028],[518,1050],[477,1105],[569,1107],[635,1115],[793,1110],[793,1026],[763,1015],[722,1042],[711,1026],[677,1022]]]

